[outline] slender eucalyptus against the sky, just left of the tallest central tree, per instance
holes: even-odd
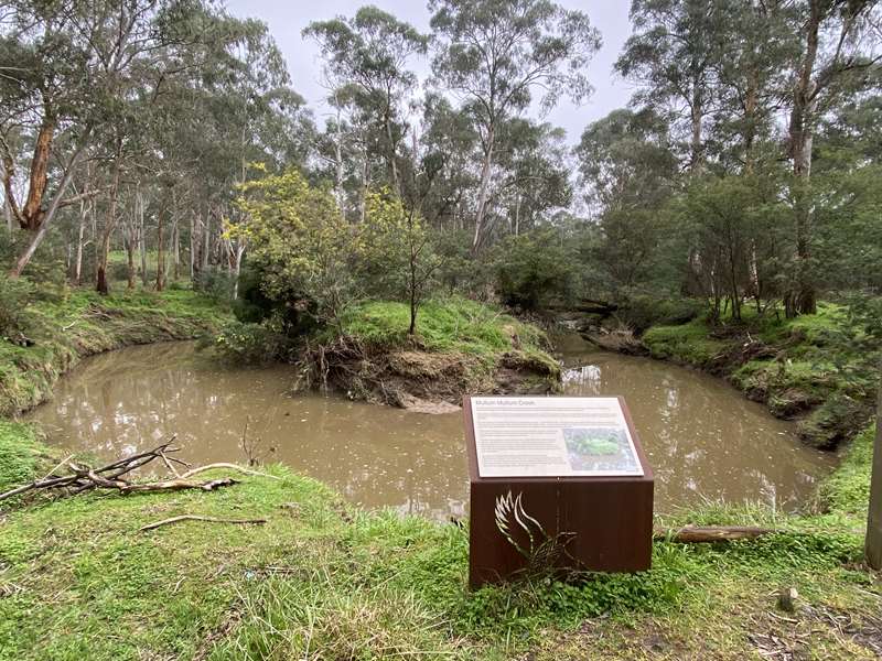
[[[415,56],[427,53],[429,37],[373,6],[361,8],[352,19],[310,23],[303,35],[319,42],[334,91],[351,87],[349,95],[364,119],[379,129],[391,185],[400,193],[397,161],[405,137],[402,100],[417,83],[408,67]]]

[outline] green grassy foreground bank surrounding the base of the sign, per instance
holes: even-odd
[[[453,524],[345,505],[275,466],[212,494],[87,495],[0,517],[0,659],[872,659],[882,585],[860,565],[868,431],[818,513],[750,507],[693,523],[787,532],[730,545],[657,542],[638,575],[470,593]],[[0,425],[0,485],[45,470],[31,427]],[[266,518],[183,522],[181,513]],[[797,611],[775,607],[783,586]],[[875,647],[874,647],[875,646]]]

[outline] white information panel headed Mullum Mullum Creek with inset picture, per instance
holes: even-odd
[[[473,397],[481,477],[642,476],[611,397]]]

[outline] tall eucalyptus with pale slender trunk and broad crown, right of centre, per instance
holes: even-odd
[[[550,0],[430,0],[437,36],[432,68],[438,84],[463,101],[481,138],[481,177],[472,250],[484,238],[501,126],[519,116],[541,90],[549,109],[566,94],[591,91],[587,68],[600,34],[581,11]]]

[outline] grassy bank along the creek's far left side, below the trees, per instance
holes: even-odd
[[[94,354],[128,345],[190,339],[228,315],[189,290],[161,294],[86,290],[43,293],[22,313],[22,337],[0,338],[0,416],[45,400],[58,377]]]

